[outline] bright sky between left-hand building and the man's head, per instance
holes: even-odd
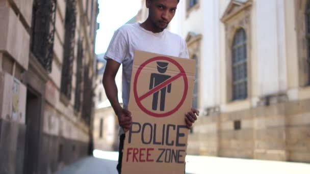
[[[106,52],[114,31],[137,15],[141,0],[99,0],[99,14],[95,53]]]

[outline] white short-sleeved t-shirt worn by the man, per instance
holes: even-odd
[[[168,30],[153,33],[145,30],[138,22],[121,26],[112,37],[105,59],[112,59],[122,64],[122,99],[124,106],[128,105],[129,100],[135,49],[189,58],[185,40]]]

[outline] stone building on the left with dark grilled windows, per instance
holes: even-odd
[[[92,148],[96,0],[0,0],[0,173],[54,173]]]

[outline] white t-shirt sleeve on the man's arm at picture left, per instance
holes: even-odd
[[[114,32],[109,47],[105,54],[105,59],[112,59],[119,64],[123,62],[128,54],[128,42],[125,35],[120,29]]]

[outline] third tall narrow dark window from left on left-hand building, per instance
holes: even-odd
[[[82,91],[82,72],[83,72],[83,41],[80,39],[77,43],[77,60],[76,60],[76,84],[75,84],[75,98],[74,109],[81,110],[81,91]]]

